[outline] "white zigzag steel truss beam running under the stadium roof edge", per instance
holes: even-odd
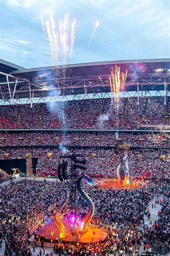
[[[97,93],[96,91],[94,91],[95,88],[102,90],[103,93],[104,92],[108,93],[110,91],[110,88],[109,88],[110,83],[109,83],[108,75],[100,76],[101,80],[99,80],[98,76],[91,76],[89,78],[86,77],[84,79],[83,78],[67,78],[65,80],[62,80],[62,79],[56,80],[55,78],[53,78],[53,79],[47,79],[47,80],[29,81],[27,79],[18,78],[16,76],[2,73],[2,72],[0,72],[0,74],[6,77],[6,82],[0,83],[0,98],[3,99],[4,101],[13,103],[14,98],[16,98],[15,95],[17,93],[17,96],[20,95],[22,98],[29,98],[31,107],[33,106],[34,97],[42,97],[44,102],[46,102],[46,98],[48,96],[47,92],[50,90],[58,90],[59,93],[61,93],[62,90],[65,90],[66,92],[68,92],[66,93],[66,95],[71,94],[71,91],[75,89],[83,90],[85,94],[85,99],[88,97],[88,91],[89,91],[88,88],[93,89],[94,94]],[[143,85],[151,88],[153,85],[154,86],[162,85],[162,87],[164,87],[164,98],[165,98],[164,104],[166,104],[166,96],[169,90],[169,87],[168,87],[169,84],[170,84],[170,76],[167,74],[166,75],[157,75],[157,74],[135,75],[135,76],[128,75],[127,82],[125,84],[124,95],[126,96],[126,94],[128,93],[128,90],[130,90],[129,89],[130,86],[136,86],[137,98],[138,98],[137,103],[139,104],[140,87],[142,88],[142,95],[143,95]],[[157,89],[155,88],[155,90]],[[41,95],[38,95],[39,93]]]

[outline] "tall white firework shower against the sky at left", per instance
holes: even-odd
[[[55,78],[66,78],[66,66],[71,64],[72,53],[75,39],[75,25],[76,19],[71,25],[71,33],[69,33],[69,14],[64,17],[63,22],[59,22],[58,31],[56,30],[53,13],[44,25],[43,17],[41,15],[42,30],[44,38],[49,43],[51,52],[51,59],[53,69],[55,70]],[[62,66],[62,73],[60,71]]]

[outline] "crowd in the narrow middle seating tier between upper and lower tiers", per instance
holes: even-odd
[[[60,145],[62,142],[66,146],[115,146],[122,140],[124,144],[131,147],[145,148],[169,148],[169,134],[160,132],[150,133],[125,133],[121,132],[117,137],[115,133],[107,134],[59,134],[56,132],[20,132],[20,133],[0,133],[0,145],[2,146],[36,146],[36,145]]]

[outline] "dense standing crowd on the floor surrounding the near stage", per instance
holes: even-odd
[[[169,224],[167,183],[156,185],[152,182],[141,182],[138,188],[99,188],[102,180],[94,179],[95,186],[86,182],[83,187],[93,200],[95,214],[89,226],[104,229],[107,232],[106,241],[99,244],[63,243],[59,241],[54,252],[69,255],[140,255],[139,249],[147,239],[161,239],[168,244]],[[3,219],[1,221],[0,237],[5,239],[5,256],[33,255],[33,248],[29,246],[30,229],[41,223],[42,216],[51,216],[55,208],[50,206],[62,200],[59,197],[61,188],[69,188],[69,181],[15,183],[2,188]],[[51,196],[54,195],[54,196]],[[158,220],[151,228],[145,224],[144,215],[148,212],[148,203],[156,196],[164,195],[162,208]],[[87,206],[77,194],[77,215],[81,220],[87,211]],[[41,215],[43,213],[43,215]],[[70,206],[66,205],[63,217],[70,214]],[[25,236],[25,239],[22,237]],[[81,240],[80,240],[81,241]],[[3,241],[4,243],[4,241]],[[45,249],[44,249],[45,251]]]

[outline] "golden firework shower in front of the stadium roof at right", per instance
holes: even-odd
[[[126,78],[127,78],[127,70],[126,73],[124,74],[120,71],[120,67],[117,67],[115,65],[115,71],[113,71],[112,67],[112,72],[111,76],[109,76],[109,82],[110,82],[110,89],[111,89],[111,102],[113,102],[113,93],[114,93],[114,101],[119,102],[119,94],[120,90],[124,90],[124,85],[126,84]]]

